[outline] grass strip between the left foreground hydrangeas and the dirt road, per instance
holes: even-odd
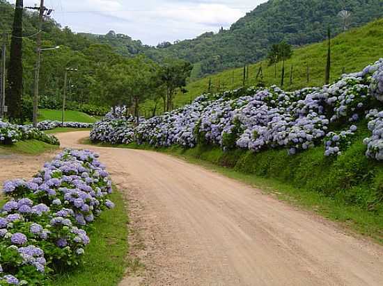
[[[115,188],[111,201],[116,208],[107,210],[93,224],[91,244],[86,248],[84,266],[58,274],[55,286],[118,285],[130,266],[128,253],[128,218],[122,194]]]

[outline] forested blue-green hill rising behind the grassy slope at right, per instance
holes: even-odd
[[[328,26],[334,35],[341,33],[338,13],[344,9],[352,12],[349,28],[383,17],[382,0],[269,0],[228,31],[205,33],[164,49],[149,49],[146,54],[154,60],[183,58],[196,64],[197,76],[212,74],[256,62],[281,40],[299,47],[324,40]]]

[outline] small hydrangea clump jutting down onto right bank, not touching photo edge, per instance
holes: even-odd
[[[325,137],[325,156],[341,155],[352,143],[352,139],[357,131],[357,126],[350,126],[350,130],[341,131],[340,133],[329,132]]]

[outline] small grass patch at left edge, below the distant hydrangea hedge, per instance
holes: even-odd
[[[47,151],[54,151],[58,146],[47,144],[39,140],[19,141],[12,145],[0,145],[0,154],[20,153],[26,155],[38,155]]]

